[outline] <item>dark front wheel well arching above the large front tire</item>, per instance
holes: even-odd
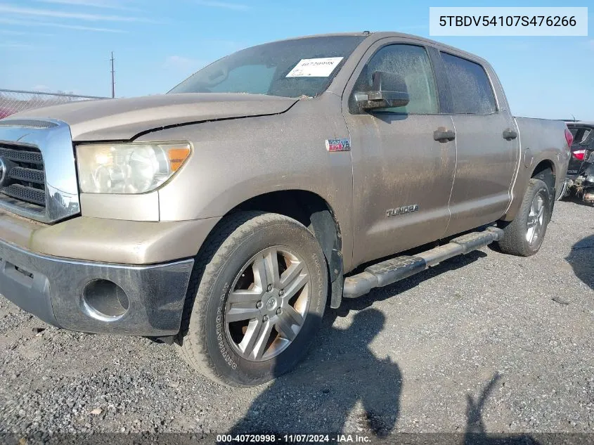
[[[340,225],[328,202],[309,191],[278,191],[250,198],[229,213],[246,210],[283,214],[296,219],[314,234],[328,264],[332,285],[330,305],[338,307],[342,299],[342,236]]]

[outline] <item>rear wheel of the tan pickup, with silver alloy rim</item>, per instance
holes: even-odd
[[[538,198],[537,198],[538,197]],[[545,237],[548,222],[550,221],[553,203],[551,202],[550,189],[541,179],[530,179],[524,200],[519,207],[515,219],[509,223],[500,221],[499,226],[503,228],[503,240],[498,241],[502,252],[529,257],[534,255],[541,248]],[[531,232],[530,221],[534,221],[535,200],[542,200],[542,214],[538,217],[538,227]],[[536,204],[536,207],[538,204]]]

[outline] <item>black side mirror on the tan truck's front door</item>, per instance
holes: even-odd
[[[396,108],[408,105],[406,81],[392,72],[375,71],[372,75],[371,91],[355,93],[355,101],[361,110]]]

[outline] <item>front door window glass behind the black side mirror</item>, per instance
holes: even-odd
[[[353,91],[370,91],[375,71],[404,77],[411,101],[406,107],[385,108],[375,112],[399,112],[416,115],[437,113],[437,87],[427,51],[422,46],[394,44],[377,51],[363,68]]]

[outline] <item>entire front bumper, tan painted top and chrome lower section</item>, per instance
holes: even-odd
[[[174,335],[193,257],[217,221],[47,225],[0,210],[0,294],[60,328]]]

